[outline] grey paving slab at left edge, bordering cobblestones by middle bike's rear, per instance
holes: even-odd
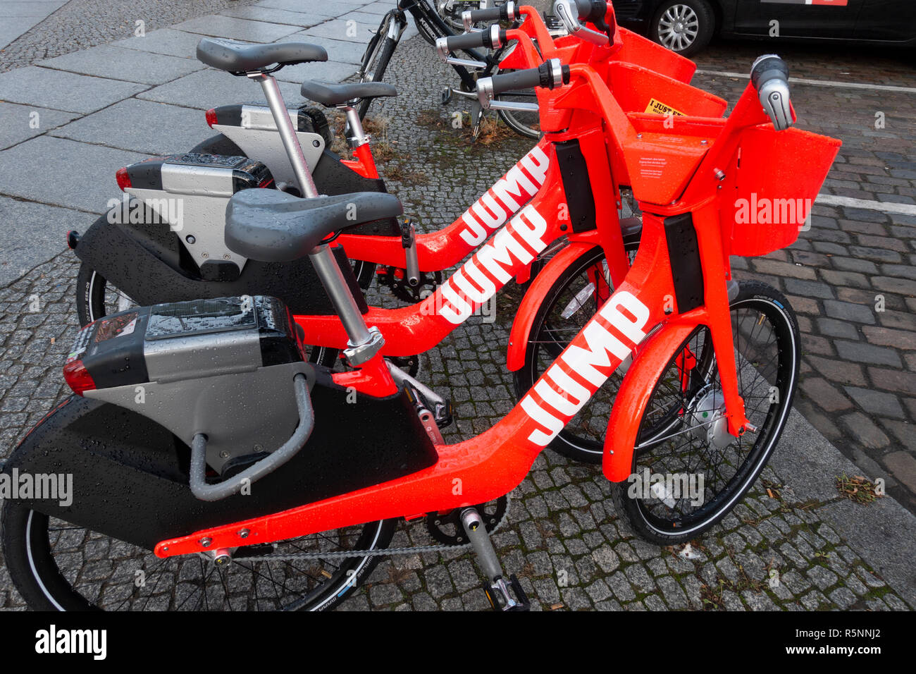
[[[13,282],[48,260],[47,249],[59,249],[71,229],[85,231],[95,215],[47,204],[0,196],[4,227],[0,244],[0,286]],[[24,226],[35,223],[34,227]]]

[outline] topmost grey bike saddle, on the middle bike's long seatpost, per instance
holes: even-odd
[[[197,59],[221,71],[243,74],[265,70],[274,63],[284,66],[327,61],[328,52],[323,47],[307,42],[247,44],[231,39],[204,38],[197,43]]]

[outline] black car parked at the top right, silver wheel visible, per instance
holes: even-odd
[[[729,38],[916,45],[916,0],[614,0],[617,23],[691,56]]]

